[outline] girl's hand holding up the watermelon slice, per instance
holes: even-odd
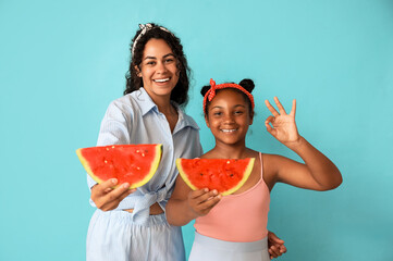
[[[217,190],[209,191],[208,188],[189,191],[188,194],[188,206],[193,212],[197,215],[206,215],[209,211],[220,202],[222,196]]]

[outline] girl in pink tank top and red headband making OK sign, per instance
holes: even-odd
[[[245,138],[254,120],[254,83],[216,85],[201,90],[207,126],[216,146],[201,158],[255,158],[247,182],[233,195],[222,197],[207,188],[192,191],[179,176],[167,206],[172,225],[185,225],[196,219],[195,241],[189,260],[269,260],[267,221],[270,191],[278,182],[296,187],[328,190],[342,183],[337,167],[302,137],[295,124],[296,101],[287,114],[274,97],[279,112],[266,101],[272,113],[265,124],[268,132],[295,151],[305,163],[266,154],[246,147]],[[271,126],[271,125],[272,126]],[[240,221],[234,223],[233,221]]]

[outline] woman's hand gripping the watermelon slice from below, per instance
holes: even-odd
[[[113,188],[116,184],[118,179],[111,178],[91,188],[91,200],[98,209],[102,211],[113,210],[118,208],[125,197],[136,190],[136,188],[130,189],[130,184],[127,183]]]

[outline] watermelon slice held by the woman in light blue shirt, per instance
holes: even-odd
[[[155,175],[162,145],[111,145],[76,150],[83,166],[97,183],[116,178],[131,188],[145,185]]]

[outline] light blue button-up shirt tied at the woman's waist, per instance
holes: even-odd
[[[158,202],[164,210],[177,175],[175,160],[200,157],[202,149],[196,122],[177,108],[179,120],[171,133],[163,113],[144,88],[110,103],[101,122],[97,146],[162,144],[162,159],[155,176],[123,199],[115,210],[134,209],[133,221],[147,224],[149,207]],[[96,182],[87,175],[91,188]],[[90,203],[95,207],[90,199]]]

